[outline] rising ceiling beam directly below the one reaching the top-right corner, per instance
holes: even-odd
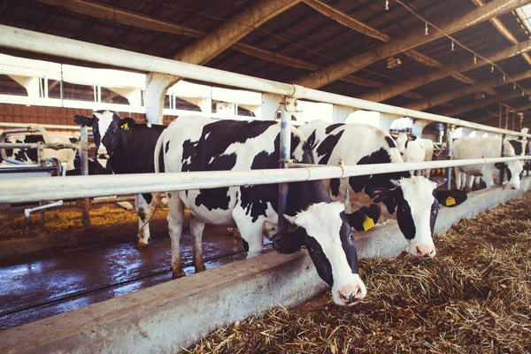
[[[504,50],[498,50],[483,57],[487,58],[489,62],[494,63],[500,60],[504,60],[506,58],[517,56],[529,50],[531,50],[531,41],[521,42],[518,45],[506,48]],[[444,79],[455,73],[463,73],[469,70],[477,69],[484,65],[489,65],[489,62],[481,58],[478,58],[477,63],[475,64],[471,59],[461,60],[453,65],[446,66],[443,70],[413,77],[412,79],[407,81],[397,82],[393,85],[386,86],[385,88],[370,92],[364,96],[361,96],[360,98],[373,102],[385,101],[386,99],[400,95],[403,92],[410,91],[412,89],[417,89],[421,86],[427,85],[430,82]]]

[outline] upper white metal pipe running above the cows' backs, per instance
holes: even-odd
[[[239,73],[228,73],[218,69],[212,69],[201,65],[182,63],[172,59],[150,57],[145,54],[127,50],[119,50],[105,47],[99,44],[81,42],[56,35],[28,31],[15,27],[0,25],[0,47],[12,48],[24,51],[50,54],[62,58],[85,60],[104,65],[113,65],[122,68],[133,69],[146,73],[164,73],[193,79],[227,85],[241,89],[250,89],[258,92],[270,92],[283,96],[308,99],[328,104],[340,104],[364,110],[385,112],[416,119],[426,119],[453,124],[458,127],[470,127],[485,132],[527,136],[519,132],[499,129],[496,127],[483,126],[461,119],[453,119],[427,112],[413,111],[406,108],[395,107],[389,104],[378,104],[349,96],[331,94],[316,89],[305,89],[302,86],[284,82],[258,79]]]

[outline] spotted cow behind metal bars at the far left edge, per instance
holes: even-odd
[[[55,143],[73,143],[77,142],[76,138],[68,137],[65,135],[47,135],[47,142]],[[6,142],[44,142],[44,137],[38,135],[9,135]],[[28,164],[35,164],[37,162],[37,150],[36,149],[5,149],[5,155],[7,158],[14,158],[18,161]],[[75,150],[73,149],[44,149],[42,150],[42,158],[57,158],[61,163],[66,164],[66,171],[72,171],[75,167],[73,160],[75,158]]]

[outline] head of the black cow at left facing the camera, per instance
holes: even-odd
[[[112,111],[95,111],[92,118],[76,115],[73,120],[81,126],[92,127],[96,159],[104,167],[118,147],[120,129],[128,130],[135,126],[135,119],[120,119],[118,113]]]

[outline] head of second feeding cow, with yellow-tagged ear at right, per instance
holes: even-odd
[[[419,258],[434,258],[435,220],[439,212],[436,188],[446,179],[432,181],[422,176],[391,180],[393,189],[377,188],[369,192],[375,202],[386,204],[389,213],[396,210],[400,231],[409,242],[409,252]],[[464,200],[456,200],[456,204]]]

